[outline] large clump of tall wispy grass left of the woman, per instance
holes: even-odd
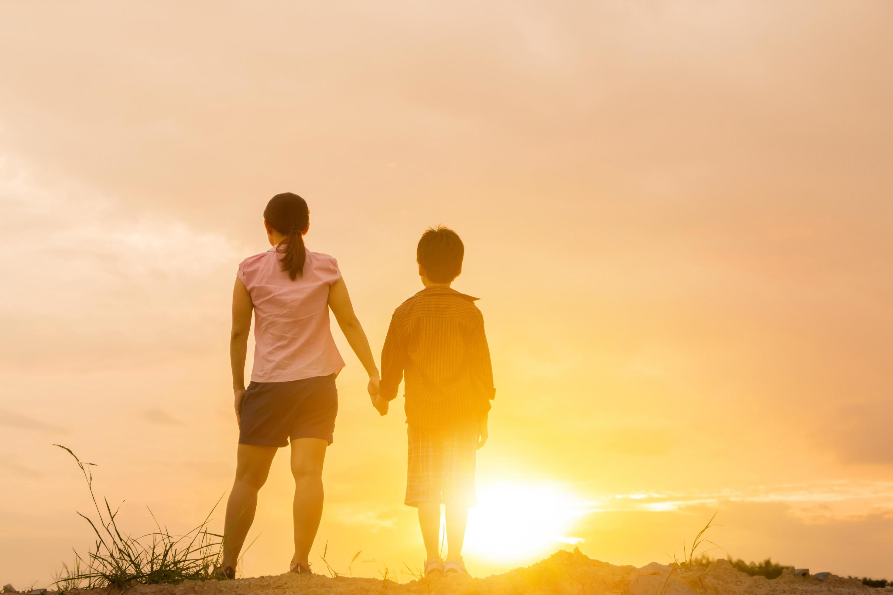
[[[122,533],[118,525],[121,506],[113,510],[108,500],[103,499],[102,505],[96,500],[90,470],[96,465],[85,463],[61,444],[54,446],[66,450],[77,461],[96,508],[96,519],[78,513],[93,529],[96,542],[86,556],[75,551],[74,563],[71,566],[63,565],[62,573],[56,574],[54,584],[60,591],[111,587],[128,591],[138,584],[176,584],[214,578],[214,567],[222,556],[223,536],[208,531],[208,523],[220,500],[204,517],[204,521],[188,533],[171,535],[152,515],[155,531],[132,537]],[[149,510],[149,513],[152,514],[152,511]]]

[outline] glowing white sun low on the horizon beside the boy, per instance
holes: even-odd
[[[468,514],[464,550],[493,562],[520,563],[555,550],[585,512],[557,485],[499,483],[480,486],[478,506]]]

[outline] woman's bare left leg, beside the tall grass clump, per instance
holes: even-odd
[[[223,558],[221,566],[236,567],[248,530],[255,520],[257,492],[267,481],[270,465],[276,455],[275,446],[239,444],[236,455],[236,481],[226,504],[223,525]]]

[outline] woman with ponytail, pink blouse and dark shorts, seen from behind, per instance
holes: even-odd
[[[230,362],[236,396],[238,460],[227,502],[223,559],[217,574],[235,578],[239,551],[255,518],[257,491],[276,450],[291,442],[295,475],[295,556],[291,571],[310,574],[307,557],[322,515],[322,461],[338,413],[335,377],[344,360],[332,340],[329,309],[369,374],[379,405],[379,370],[356,319],[338,262],[309,252],[307,203],[276,194],[263,211],[272,248],[243,260],[232,294]],[[251,312],[255,312],[255,366],[245,387]]]

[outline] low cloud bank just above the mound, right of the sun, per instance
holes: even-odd
[[[721,501],[663,511],[627,509],[580,518],[574,535],[586,541],[581,550],[592,558],[636,566],[665,562],[680,554],[718,510],[706,539],[720,546],[703,551],[717,558],[747,560],[772,557],[781,564],[808,567],[814,573],[887,577],[893,574],[889,539],[893,516],[883,512],[836,516],[816,524],[799,516],[788,502]],[[645,529],[644,527],[647,527]],[[839,545],[840,544],[840,545]]]

